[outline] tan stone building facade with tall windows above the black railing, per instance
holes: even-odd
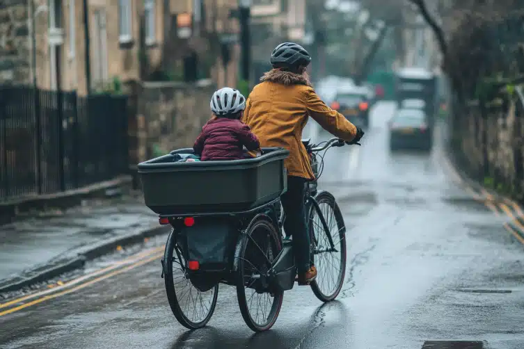
[[[161,59],[164,1],[88,0],[92,90],[141,79],[141,55]],[[9,0],[0,5],[0,83],[87,93],[83,0]]]

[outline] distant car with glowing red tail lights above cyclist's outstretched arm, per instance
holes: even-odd
[[[365,127],[370,126],[369,90],[358,86],[344,86],[337,91],[331,108],[335,109],[348,120],[358,117]]]

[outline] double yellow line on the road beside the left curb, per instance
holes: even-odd
[[[86,288],[87,286],[90,286],[97,282],[101,282],[104,279],[108,279],[109,277],[125,273],[138,266],[143,266],[144,264],[150,263],[154,260],[158,260],[164,254],[163,250],[164,246],[154,247],[150,250],[146,250],[139,254],[134,254],[131,257],[127,257],[127,259],[118,261],[109,267],[96,270],[93,273],[89,273],[82,277],[78,277],[77,279],[72,279],[69,282],[60,283],[61,286],[56,286],[53,289],[47,289],[45,291],[40,291],[31,295],[25,295],[24,297],[1,303],[0,316],[14,313],[15,311],[22,310],[26,307],[31,307],[32,305],[36,305],[38,303],[45,302],[46,300],[57,298],[62,295],[66,295],[68,293],[79,291],[81,289]]]

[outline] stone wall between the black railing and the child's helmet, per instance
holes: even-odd
[[[138,160],[173,149],[192,147],[212,116],[209,100],[215,90],[210,81],[141,83],[138,88]]]

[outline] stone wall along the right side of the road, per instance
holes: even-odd
[[[456,106],[451,152],[470,177],[524,203],[524,96]]]

